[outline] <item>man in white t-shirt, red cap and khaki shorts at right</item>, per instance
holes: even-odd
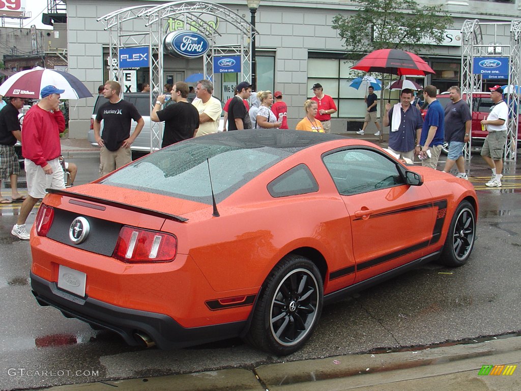
[[[483,159],[492,170],[492,177],[485,185],[488,187],[501,187],[508,106],[503,100],[503,89],[500,85],[494,85],[489,90],[494,106],[492,106],[487,119],[481,121],[481,126],[489,132],[483,143],[481,156],[483,156]]]

